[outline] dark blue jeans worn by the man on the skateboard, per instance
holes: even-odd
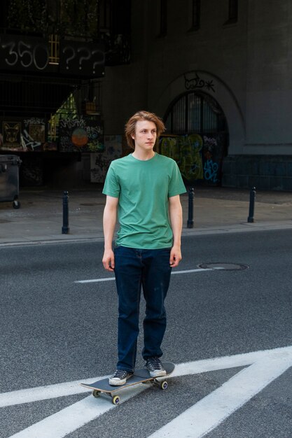
[[[118,369],[134,371],[139,334],[141,289],[146,301],[144,359],[162,356],[160,348],[166,328],[165,297],[172,268],[170,248],[134,249],[118,246],[115,276],[118,291]]]

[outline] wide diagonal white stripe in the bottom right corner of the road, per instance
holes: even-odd
[[[157,430],[151,438],[204,437],[291,366],[292,350],[290,355],[285,351],[270,358],[264,355]]]

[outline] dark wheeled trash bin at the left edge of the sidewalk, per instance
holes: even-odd
[[[20,208],[18,155],[0,155],[0,202],[13,201],[13,209]]]

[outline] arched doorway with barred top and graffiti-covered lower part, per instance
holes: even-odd
[[[186,183],[221,185],[228,127],[216,100],[204,92],[185,92],[172,101],[164,120],[160,153],[176,160]]]

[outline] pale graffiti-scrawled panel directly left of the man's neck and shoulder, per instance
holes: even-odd
[[[104,137],[104,152],[90,155],[90,182],[104,183],[109,165],[122,155],[122,136],[106,135]]]

